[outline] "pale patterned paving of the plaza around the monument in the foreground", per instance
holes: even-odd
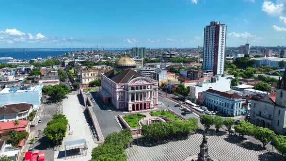
[[[127,161],[183,161],[199,153],[202,139],[202,134],[192,134],[186,140],[156,146],[132,145],[125,153]],[[210,157],[218,161],[285,161],[282,155],[263,150],[237,135],[207,136],[207,144]]]

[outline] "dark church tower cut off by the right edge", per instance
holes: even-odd
[[[275,103],[281,107],[286,107],[286,69],[282,79],[277,83]]]

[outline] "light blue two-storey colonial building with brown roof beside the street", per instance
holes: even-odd
[[[245,115],[250,110],[250,97],[213,89],[203,91],[202,103],[213,111],[219,111],[223,115],[231,117]]]

